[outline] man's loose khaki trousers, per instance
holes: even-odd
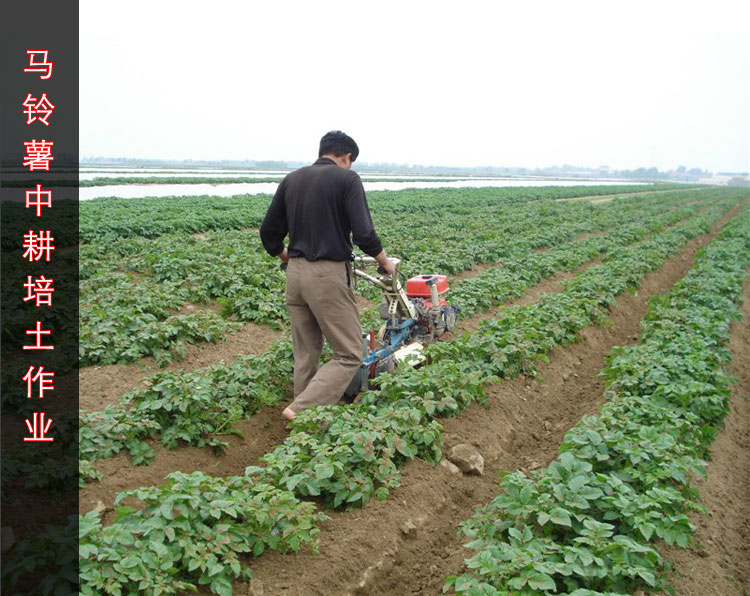
[[[294,351],[294,401],[289,407],[295,414],[338,402],[362,364],[362,325],[352,276],[348,262],[289,259],[286,304]],[[324,337],[334,355],[318,368]]]

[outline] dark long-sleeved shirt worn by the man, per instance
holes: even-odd
[[[284,250],[287,233],[291,258],[348,261],[350,234],[371,257],[383,250],[359,176],[327,157],[295,170],[279,184],[260,226],[268,254],[275,257]]]

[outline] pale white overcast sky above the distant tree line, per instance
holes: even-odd
[[[80,1],[82,157],[750,170],[750,2]]]

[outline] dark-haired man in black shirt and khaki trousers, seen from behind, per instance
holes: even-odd
[[[294,351],[294,401],[282,412],[287,420],[306,408],[335,404],[362,364],[350,234],[387,273],[394,271],[375,233],[362,181],[350,169],[358,155],[354,139],[340,130],[326,133],[318,160],[279,184],[260,227],[268,254],[287,263]],[[323,337],[334,355],[318,368]]]

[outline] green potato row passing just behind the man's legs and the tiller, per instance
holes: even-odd
[[[694,208],[686,207],[661,216],[653,215],[645,223],[623,226],[603,236],[568,243],[533,256],[508,259],[497,271],[485,271],[477,278],[458,282],[452,290],[452,301],[473,314],[480,307],[489,308],[493,303],[521,295],[526,288],[555,271],[571,270],[636,242],[646,234],[659,232],[693,212]],[[375,320],[363,323],[369,328]],[[167,447],[176,446],[179,440],[220,448],[224,443],[212,435],[228,432],[235,422],[260,405],[283,399],[291,362],[291,342],[286,338],[269,352],[241,357],[230,366],[217,365],[194,373],[157,374],[149,380],[147,389],[130,392],[121,404],[89,414],[82,420],[81,459],[91,462],[127,449],[134,464],[145,463],[153,452],[144,439],[158,434]],[[223,397],[216,400],[216,395]],[[82,476],[96,477],[90,463],[82,464]]]

